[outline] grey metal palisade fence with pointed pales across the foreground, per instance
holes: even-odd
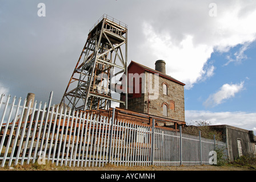
[[[51,98],[46,107],[0,96],[1,167],[35,162],[81,167],[201,165],[209,164],[215,147],[226,147],[181,130],[114,119],[115,109],[109,117],[99,117],[50,104]]]

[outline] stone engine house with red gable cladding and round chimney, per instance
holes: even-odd
[[[155,69],[151,69],[131,61],[127,68],[127,109],[185,124],[185,84],[166,75],[165,64],[165,61],[158,60]]]

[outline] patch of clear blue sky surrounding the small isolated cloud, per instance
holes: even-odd
[[[193,88],[186,90],[186,109],[187,110],[204,110],[209,109],[214,112],[218,111],[247,111],[255,112],[256,102],[255,97],[255,52],[256,43],[253,42],[250,47],[243,52],[244,58],[242,60],[229,62],[227,56],[235,59],[235,52],[239,52],[241,45],[231,48],[229,52],[211,54],[210,62],[214,65],[214,75],[207,78],[205,81],[198,82]],[[218,105],[205,106],[203,103],[207,100],[210,94],[218,92],[224,84],[241,84],[243,86],[234,96],[223,99],[223,102]]]

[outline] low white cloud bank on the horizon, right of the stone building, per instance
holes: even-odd
[[[186,110],[185,116],[187,123],[209,121],[211,125],[230,125],[246,130],[254,130],[254,134],[256,134],[256,113]]]

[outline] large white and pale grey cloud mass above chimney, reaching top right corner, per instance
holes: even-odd
[[[209,16],[207,1],[193,1],[195,9],[189,4],[185,6],[183,1],[176,2],[143,23],[146,42],[141,52],[149,52],[143,57],[145,64],[154,67],[149,60],[165,60],[166,73],[185,82],[186,89],[190,89],[205,78],[204,65],[214,51],[227,52],[241,44],[234,60],[246,58],[244,52],[256,38],[255,2],[215,1],[217,17]],[[207,76],[213,76],[214,67],[209,71]]]

